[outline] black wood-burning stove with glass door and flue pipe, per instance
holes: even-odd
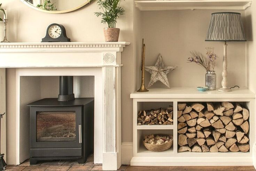
[[[73,77],[60,76],[58,99],[41,99],[28,106],[30,164],[46,160],[86,162],[93,152],[94,98],[75,99]]]

